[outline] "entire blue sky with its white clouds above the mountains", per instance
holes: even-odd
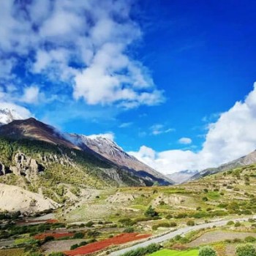
[[[236,119],[236,102],[251,111],[241,134],[256,128],[255,1],[7,2],[0,107],[21,106],[65,132],[113,134],[164,173],[256,148],[253,135],[240,141],[218,128]],[[225,157],[216,160],[219,148]]]

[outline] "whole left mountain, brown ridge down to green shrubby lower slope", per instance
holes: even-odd
[[[0,183],[54,200],[78,200],[83,189],[173,184],[105,138],[62,134],[35,118],[0,127]]]

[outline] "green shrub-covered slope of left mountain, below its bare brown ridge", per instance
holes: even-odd
[[[116,167],[83,151],[53,146],[37,140],[14,141],[0,138],[0,152],[0,162],[5,166],[15,165],[14,157],[18,152],[26,154],[26,157],[36,159],[39,164],[45,166],[43,172],[39,173],[38,176],[31,177],[30,180],[24,176],[8,174],[7,176],[0,176],[1,183],[17,185],[32,192],[42,190],[45,196],[59,203],[63,203],[67,199],[65,195],[68,190],[79,195],[81,187],[96,189],[118,187],[118,183],[105,174],[105,171],[108,172],[108,169]],[[42,156],[56,156],[61,159],[63,154],[68,159],[71,159],[71,163],[61,164],[60,162],[52,161],[45,164],[42,161]],[[116,168],[116,172],[124,184],[140,184],[138,178],[130,178],[122,170],[118,170],[118,168]]]

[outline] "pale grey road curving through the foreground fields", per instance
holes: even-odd
[[[125,252],[129,252],[131,250],[138,249],[138,248],[141,248],[141,247],[146,247],[150,244],[159,244],[159,243],[162,243],[163,241],[170,240],[170,239],[174,238],[177,235],[184,235],[186,233],[189,233],[190,231],[200,230],[200,229],[206,228],[206,227],[225,226],[225,225],[227,225],[227,222],[229,222],[230,220],[233,220],[233,222],[244,222],[244,221],[247,221],[248,219],[249,218],[225,219],[225,220],[219,220],[219,221],[216,221],[216,222],[203,223],[203,224],[196,225],[196,226],[193,226],[193,227],[182,227],[178,230],[172,231],[172,232],[167,233],[163,236],[159,236],[159,237],[156,237],[156,238],[151,238],[150,240],[143,241],[140,244],[135,244],[133,246],[129,246],[127,248],[119,249],[115,252],[111,252],[109,255],[110,256],[120,256],[120,255],[123,255]]]

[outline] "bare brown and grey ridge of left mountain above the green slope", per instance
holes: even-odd
[[[45,143],[50,143],[53,146],[56,146],[57,148],[59,148],[59,146],[64,146],[71,150],[83,151],[83,154],[88,154],[89,156],[93,157],[94,162],[95,161],[97,162],[97,160],[95,159],[99,159],[99,161],[105,162],[107,165],[113,166],[112,170],[108,168],[107,173],[105,173],[107,176],[116,177],[117,175],[116,172],[119,172],[120,174],[121,170],[123,171],[125,170],[124,175],[131,176],[131,178],[137,177],[137,179],[140,180],[141,185],[143,185],[143,183],[144,185],[153,184],[155,181],[159,182],[159,184],[165,184],[165,185],[173,184],[173,181],[171,181],[170,179],[165,178],[165,176],[162,176],[160,173],[157,173],[157,171],[139,162],[137,159],[135,159],[135,157],[129,156],[129,154],[122,151],[121,147],[117,146],[117,144],[111,140],[107,140],[103,138],[91,139],[91,138],[87,138],[85,135],[69,135],[69,134],[64,135],[54,127],[51,127],[48,124],[44,124],[35,118],[28,118],[25,120],[15,120],[10,122],[10,124],[2,125],[0,127],[0,136],[4,138],[11,138],[12,140],[25,139],[25,140],[43,141]],[[74,136],[76,139],[76,143],[74,143]],[[71,139],[68,140],[67,139],[68,137],[72,138],[72,140]],[[108,144],[109,154],[105,154],[105,151],[106,151],[105,149],[103,151],[100,151],[100,150],[94,151],[95,148],[100,148],[100,146],[97,146],[97,143],[99,143],[99,140],[101,142],[103,141],[105,144]],[[142,166],[142,170],[138,171],[137,169],[135,170],[131,167],[128,167],[127,165],[121,165],[120,162],[118,162],[118,160],[115,160],[115,157],[117,155],[116,153],[115,153],[115,157],[113,157],[113,154],[114,154],[113,151],[118,152],[118,154],[121,154],[126,159],[130,159],[131,160],[130,162],[134,161],[134,162],[137,162],[137,164],[139,162],[140,166]],[[63,159],[61,161],[63,162]],[[12,170],[15,170],[15,167],[12,167]],[[151,173],[147,173],[148,170],[150,170]],[[103,171],[106,171],[106,170],[103,170]],[[21,173],[22,172],[23,171],[21,171]],[[137,181],[135,183],[138,184]],[[131,185],[130,181],[129,181],[129,184]]]

